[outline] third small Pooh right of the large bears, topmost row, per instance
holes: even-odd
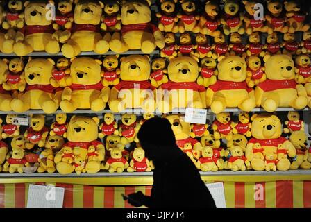
[[[217,36],[220,34],[219,3],[215,0],[206,1],[205,13],[200,17],[201,33],[203,35]]]

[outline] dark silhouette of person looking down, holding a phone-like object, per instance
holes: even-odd
[[[137,134],[146,157],[153,160],[151,196],[141,191],[128,195],[128,203],[150,208],[215,208],[210,191],[190,158],[176,145],[167,119],[147,120]]]

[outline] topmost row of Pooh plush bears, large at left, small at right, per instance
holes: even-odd
[[[219,13],[219,3],[206,1],[205,15],[201,16],[196,15],[196,1],[180,1],[183,12],[177,14],[176,2],[161,1],[161,10],[156,14],[159,18],[157,27],[151,23],[149,0],[122,1],[121,7],[118,1],[81,0],[73,6],[72,0],[61,0],[55,20],[47,16],[51,14],[51,9],[46,5],[52,1],[22,3],[21,0],[10,0],[10,12],[4,12],[0,5],[0,24],[4,28],[0,33],[0,50],[17,56],[26,56],[33,51],[51,54],[62,51],[67,58],[74,58],[83,51],[103,54],[109,49],[115,53],[141,49],[148,54],[156,47],[165,47],[161,31],[194,32],[219,37],[221,24],[225,35],[242,35],[245,31],[247,34],[285,33],[292,47],[292,33],[308,31],[310,28],[309,24],[304,23],[305,13],[301,12],[296,1],[284,2],[286,13],[280,1],[267,1],[269,13],[264,20],[254,19],[255,1],[243,1],[246,5],[245,15],[239,10],[239,1],[225,1],[222,13]],[[305,48],[310,50],[310,39],[306,41]]]

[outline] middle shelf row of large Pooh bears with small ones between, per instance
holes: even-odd
[[[267,112],[274,112],[278,107],[303,109],[311,106],[310,58],[300,55],[295,60],[296,67],[292,57],[273,55],[263,67],[256,56],[247,60],[226,56],[217,65],[212,58],[203,58],[199,67],[194,58],[180,56],[169,61],[167,71],[165,60],[154,60],[151,73],[149,56],[123,57],[120,69],[115,69],[115,56],[106,57],[104,67],[113,67],[108,70],[102,70],[102,62],[90,57],[73,58],[70,69],[65,70],[62,67],[68,60],[60,59],[56,70],[53,60],[35,58],[24,68],[27,83],[24,92],[5,90],[10,85],[8,76],[19,77],[19,74],[6,75],[7,64],[1,60],[0,110],[26,112],[33,109],[54,113],[60,107],[65,113],[76,109],[100,112],[107,103],[112,112],[126,108],[154,112],[158,108],[167,113],[174,108],[187,107],[211,108],[214,113],[226,108],[247,112],[255,107]],[[13,66],[21,66],[14,64],[10,63],[11,70],[15,69]],[[112,74],[120,80],[109,81]]]

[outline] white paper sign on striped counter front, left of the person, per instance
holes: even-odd
[[[65,188],[29,185],[27,208],[62,208]]]

